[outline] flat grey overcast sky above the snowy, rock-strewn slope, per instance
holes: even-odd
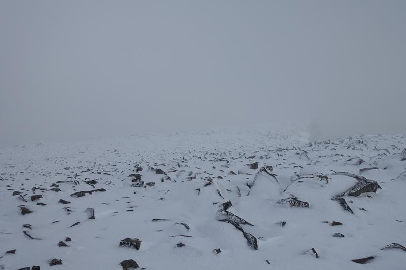
[[[406,1],[0,1],[0,145],[406,133]]]

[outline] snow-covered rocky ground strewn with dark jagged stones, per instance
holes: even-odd
[[[405,269],[382,250],[406,245],[405,147],[234,128],[0,148],[0,269]]]

